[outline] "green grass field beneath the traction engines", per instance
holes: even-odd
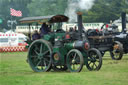
[[[0,53],[0,85],[128,85],[128,54],[115,61],[106,54],[99,71],[80,73],[31,70],[26,52]]]

